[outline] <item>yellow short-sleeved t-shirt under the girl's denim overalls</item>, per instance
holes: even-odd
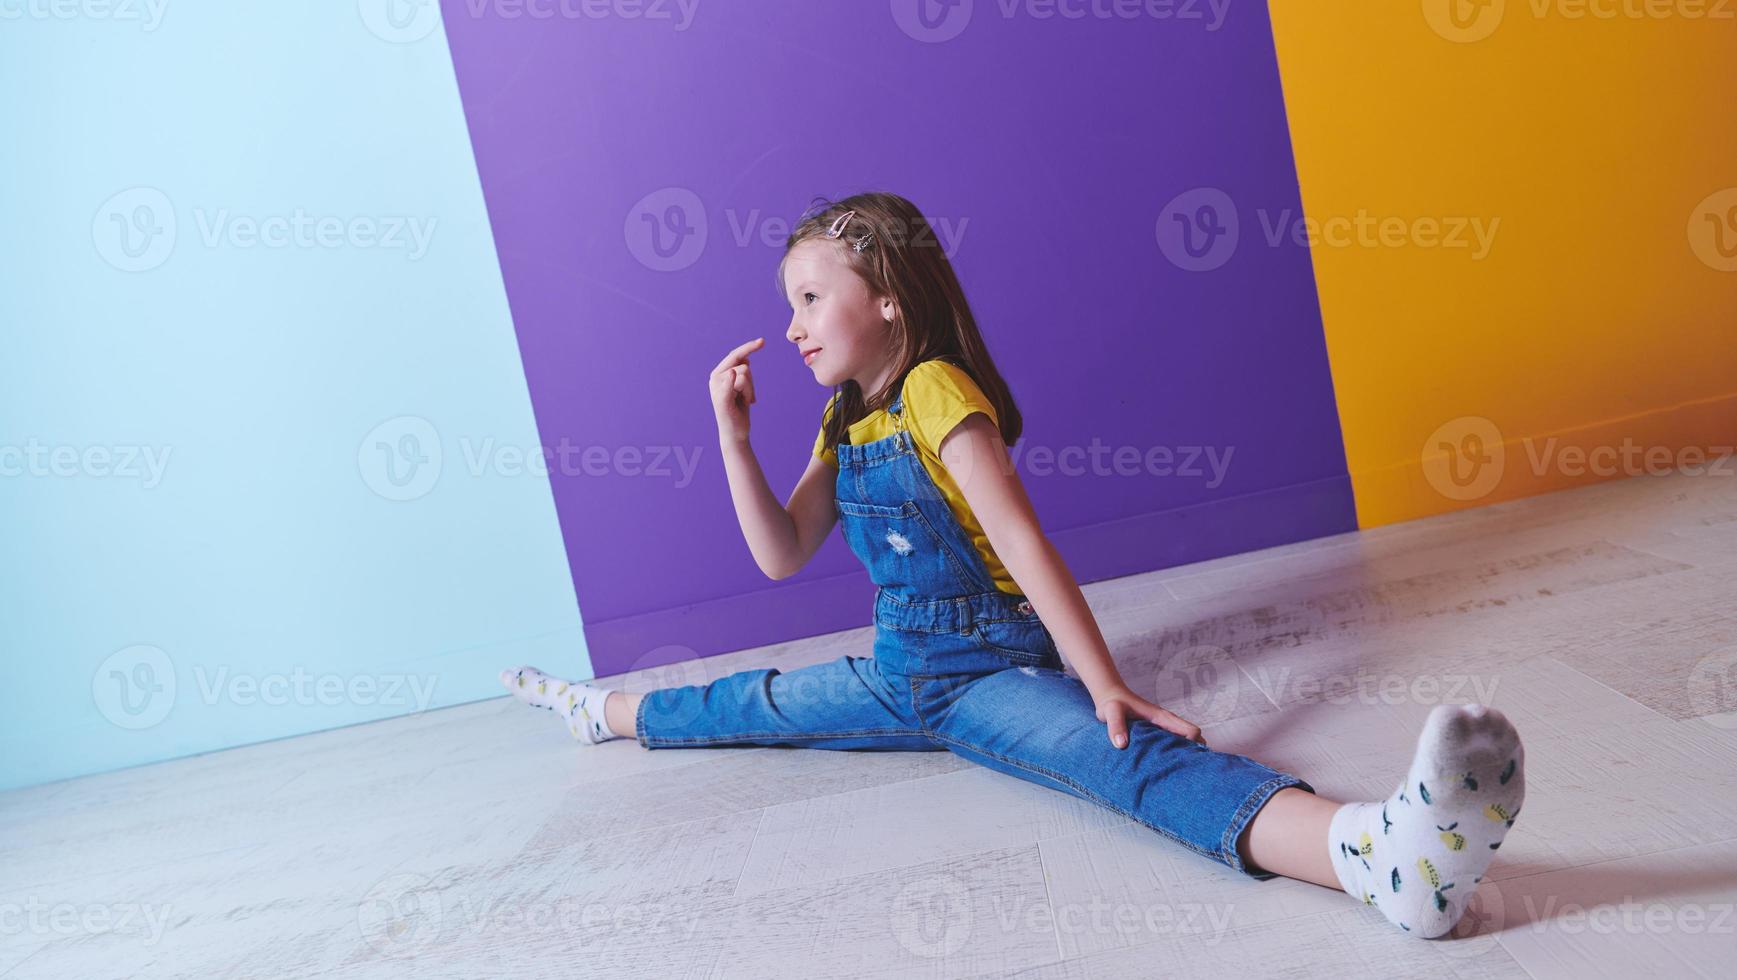
[[[971,513],[971,506],[966,504],[964,493],[959,492],[959,485],[954,481],[952,474],[947,473],[947,464],[941,462],[940,445],[947,438],[947,433],[954,431],[954,426],[966,420],[968,415],[974,412],[983,412],[997,426],[1001,419],[995,415],[995,405],[983,394],[971,375],[964,368],[943,361],[940,358],[928,360],[910,368],[905,375],[905,427],[910,431],[910,441],[917,447],[917,459],[922,460],[922,467],[929,471],[929,478],[935,480],[935,487],[940,488],[941,497],[947,499],[948,509],[954,513],[954,520],[959,526],[971,537],[971,544],[976,547],[978,556],[983,560],[983,568],[988,570],[990,579],[995,587],[1002,593],[1021,594],[1020,586],[1007,573],[1007,568],[995,556],[995,549],[988,546],[988,535],[983,533],[983,525],[978,523],[976,514]],[[815,436],[815,455],[830,462],[839,464],[839,454],[827,445],[827,412],[832,410],[832,401],[827,401],[827,408],[822,412],[820,434]],[[870,412],[868,415],[858,419],[851,424],[849,443],[865,445],[875,440],[884,440],[895,433],[893,417],[888,415],[886,408]]]

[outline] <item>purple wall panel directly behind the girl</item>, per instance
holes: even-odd
[[[1254,219],[1301,214],[1265,5],[1006,2],[936,30],[900,0],[700,2],[691,23],[443,3],[537,424],[568,450],[551,478],[599,676],[868,622],[837,532],[794,579],[754,566],[705,387],[766,337],[752,441],[783,499],[829,394],[775,285],[816,193],[891,189],[952,229],[1025,412],[1027,488],[1080,580],[1355,526],[1308,252],[1261,247]],[[1176,248],[1195,188],[1237,202],[1240,247]],[[1079,474],[1030,455],[1067,447],[1108,448]],[[1148,455],[1190,447],[1221,471]],[[641,471],[672,452],[691,474]]]

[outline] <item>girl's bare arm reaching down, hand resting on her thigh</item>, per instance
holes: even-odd
[[[1079,671],[1115,747],[1127,745],[1127,721],[1145,719],[1200,740],[1200,728],[1136,695],[1110,659],[1098,620],[1061,554],[1037,525],[1025,485],[1007,459],[1001,429],[981,412],[968,415],[941,440],[941,462],[983,525],[990,547]]]

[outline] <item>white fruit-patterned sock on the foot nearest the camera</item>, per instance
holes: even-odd
[[[1482,704],[1436,705],[1405,782],[1377,803],[1346,803],[1327,846],[1339,884],[1424,938],[1454,928],[1525,799],[1525,747]]]

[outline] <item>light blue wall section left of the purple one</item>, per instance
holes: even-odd
[[[0,21],[0,789],[591,676],[438,24],[115,7]]]

